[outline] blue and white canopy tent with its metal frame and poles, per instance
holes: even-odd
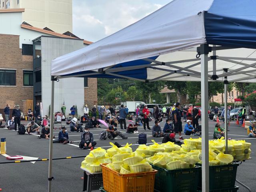
[[[224,82],[225,110],[228,82],[256,82],[255,8],[255,0],[173,0],[90,46],[52,60],[51,106],[54,81],[61,78],[201,81],[202,190],[207,192],[208,81]],[[49,178],[51,166],[50,160]]]

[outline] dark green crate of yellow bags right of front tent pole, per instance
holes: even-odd
[[[210,166],[209,182],[210,190],[234,188],[236,182],[236,170],[239,163],[232,162],[228,165]],[[202,172],[199,174],[198,189],[202,188]]]

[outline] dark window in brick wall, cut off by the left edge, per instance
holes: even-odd
[[[15,86],[16,70],[0,70],[0,85]]]

